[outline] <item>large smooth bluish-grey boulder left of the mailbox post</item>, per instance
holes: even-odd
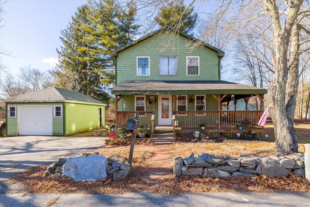
[[[108,177],[108,160],[101,155],[69,158],[63,165],[63,173],[75,181],[96,181]]]

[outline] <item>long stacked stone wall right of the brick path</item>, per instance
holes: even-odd
[[[254,177],[265,174],[268,177],[288,176],[289,171],[299,176],[305,175],[304,153],[284,155],[275,153],[270,156],[255,157],[241,155],[233,158],[229,155],[203,153],[194,157],[177,157],[174,161],[173,175],[203,176],[223,178],[228,176]]]

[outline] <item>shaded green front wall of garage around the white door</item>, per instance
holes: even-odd
[[[53,111],[53,135],[64,135],[64,117],[54,118],[54,105],[64,106],[64,103],[6,103],[6,108],[8,106],[16,106],[16,118],[9,118],[6,114],[6,126],[7,126],[7,136],[18,136],[18,106],[52,106]]]

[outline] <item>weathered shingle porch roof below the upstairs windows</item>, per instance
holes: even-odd
[[[266,90],[223,80],[131,81],[122,80],[113,91],[187,91],[187,90]],[[267,92],[266,92],[267,93]]]

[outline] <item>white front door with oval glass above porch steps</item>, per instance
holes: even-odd
[[[170,95],[162,95],[159,96],[158,102],[158,125],[162,126],[171,126],[171,114],[172,114],[172,104],[171,104],[171,96]]]

